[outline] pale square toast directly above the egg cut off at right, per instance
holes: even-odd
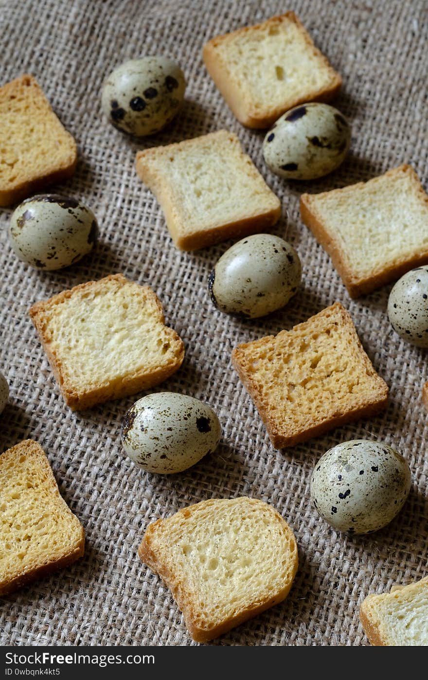
[[[409,165],[300,201],[352,298],[428,263],[428,196]]]

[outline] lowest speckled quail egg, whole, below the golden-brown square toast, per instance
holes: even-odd
[[[410,491],[410,469],[397,451],[368,439],[344,441],[316,464],[312,503],[338,531],[367,534],[389,524]]]

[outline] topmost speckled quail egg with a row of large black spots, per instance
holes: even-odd
[[[165,56],[131,59],[103,84],[101,104],[108,120],[135,137],[153,135],[174,118],[184,99],[180,67]]]

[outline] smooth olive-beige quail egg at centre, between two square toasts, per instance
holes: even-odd
[[[271,234],[238,241],[218,260],[208,290],[221,311],[255,319],[284,307],[297,291],[301,263],[290,243]]]

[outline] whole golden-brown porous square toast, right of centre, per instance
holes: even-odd
[[[373,415],[388,398],[340,303],[291,330],[238,345],[232,362],[276,449]]]

